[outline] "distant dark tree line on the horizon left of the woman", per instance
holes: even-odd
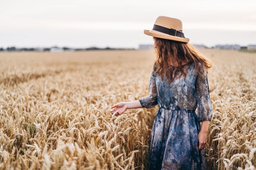
[[[99,47],[89,47],[89,48],[69,48],[69,47],[58,47],[53,46],[50,48],[16,48],[15,46],[7,47],[6,49],[0,48],[0,51],[51,51],[52,49],[59,49],[63,51],[86,51],[86,50],[134,50],[134,48],[99,48]]]

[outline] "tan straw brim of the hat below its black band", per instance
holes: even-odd
[[[173,35],[168,35],[168,34],[165,34],[165,33],[161,33],[159,31],[155,31],[155,30],[144,30],[144,34],[146,35],[150,35],[150,36],[153,36],[153,37],[157,37],[157,38],[164,38],[164,39],[167,39],[167,40],[174,40],[174,41],[180,41],[180,42],[189,42],[189,38],[181,38],[181,37],[176,37],[176,36],[173,36]]]

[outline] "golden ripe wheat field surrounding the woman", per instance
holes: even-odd
[[[212,62],[209,170],[256,169],[256,53],[200,49]],[[0,53],[0,169],[146,170],[153,50]],[[197,111],[197,110],[196,110]]]

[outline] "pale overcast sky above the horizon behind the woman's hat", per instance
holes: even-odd
[[[192,44],[256,44],[256,0],[1,0],[0,47],[137,48],[159,15]]]

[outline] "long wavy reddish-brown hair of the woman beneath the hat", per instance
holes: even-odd
[[[205,75],[200,66],[203,66],[206,70],[212,67],[211,62],[204,55],[198,53],[195,47],[189,43],[156,37],[153,37],[153,40],[156,54],[154,61],[155,73],[158,73],[162,79],[167,77],[167,83],[171,83],[179,71],[181,75],[184,75],[184,81],[186,82],[186,73],[182,68],[187,63],[193,62],[195,70],[201,77]],[[182,64],[182,62],[186,64]]]

